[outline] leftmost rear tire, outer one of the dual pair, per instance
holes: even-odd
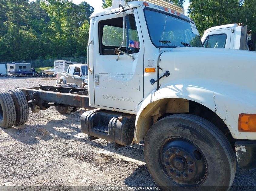
[[[12,96],[7,91],[0,91],[0,127],[8,128],[16,120],[15,105]]]

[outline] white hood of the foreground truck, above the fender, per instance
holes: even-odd
[[[160,56],[159,66],[171,73],[172,84],[218,83],[256,91],[256,52],[214,48],[172,48]],[[164,79],[164,78],[162,78]]]

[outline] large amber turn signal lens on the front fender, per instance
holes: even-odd
[[[256,132],[256,114],[239,114],[238,130],[243,132]]]

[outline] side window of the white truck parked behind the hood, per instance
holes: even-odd
[[[210,35],[204,41],[204,47],[206,47],[206,48],[225,48],[226,39],[227,39],[226,34]]]

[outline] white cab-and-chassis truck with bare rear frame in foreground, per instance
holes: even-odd
[[[28,107],[93,107],[81,115],[82,132],[116,148],[144,141],[161,189],[228,190],[236,160],[256,167],[256,54],[203,48],[181,8],[150,2],[113,0],[91,15],[88,90],[1,91],[0,126],[25,123]]]

